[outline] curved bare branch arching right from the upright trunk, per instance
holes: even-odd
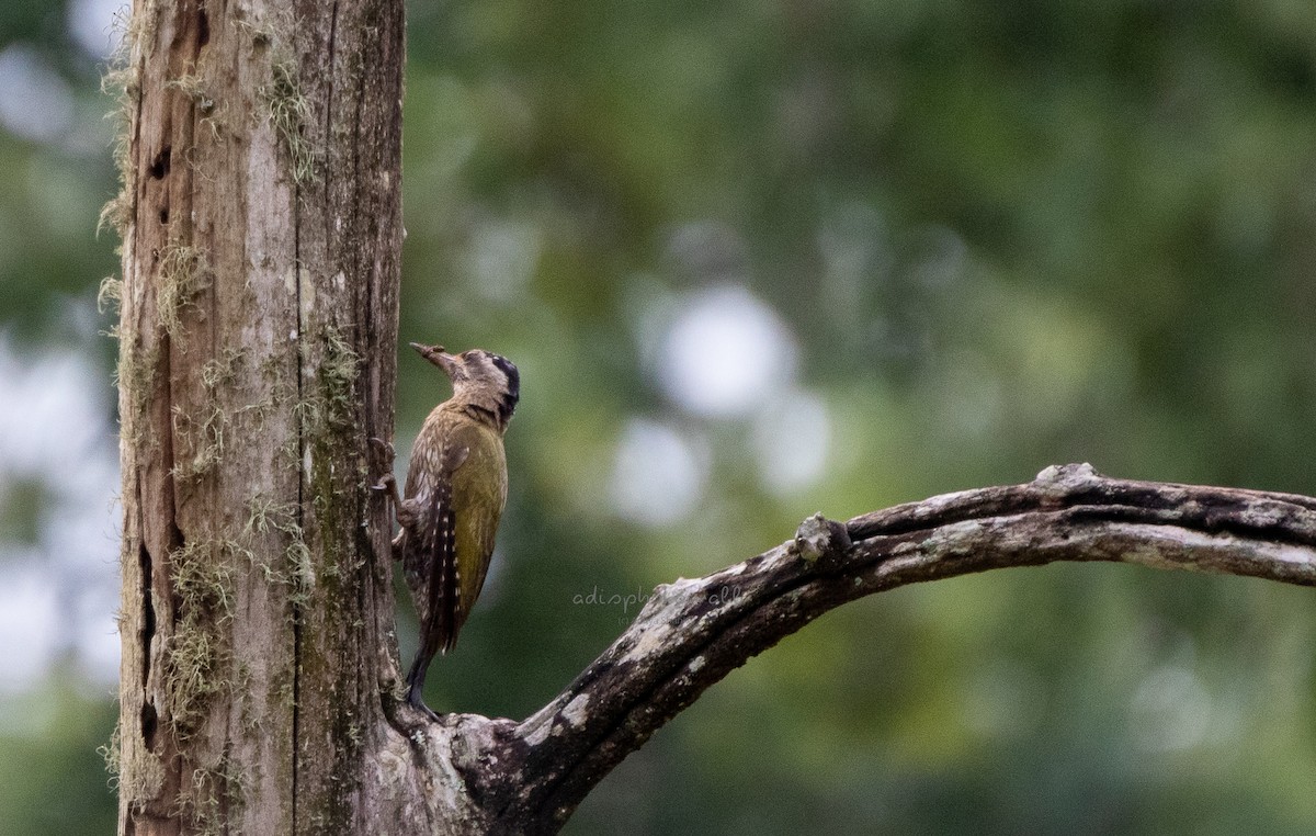
[[[1028,484],[811,517],[795,541],[659,586],[634,623],[522,723],[450,719],[454,766],[500,832],[555,832],[707,687],[828,610],[908,583],[1117,561],[1316,585],[1316,499],[1048,467]]]

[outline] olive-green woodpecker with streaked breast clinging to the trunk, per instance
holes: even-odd
[[[407,674],[407,702],[434,716],[424,702],[425,671],[436,653],[457,644],[484,586],[507,504],[503,433],[520,398],[521,375],[507,358],[483,349],[449,354],[441,345],[411,346],[447,373],[453,396],[421,425],[407,469],[405,498],[397,495],[392,473],[376,487],[392,494],[401,527],[393,558],[403,562],[420,616],[420,649]]]

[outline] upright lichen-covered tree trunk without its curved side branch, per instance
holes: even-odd
[[[136,0],[128,36],[120,832],[405,829],[365,457],[392,433],[401,0]]]

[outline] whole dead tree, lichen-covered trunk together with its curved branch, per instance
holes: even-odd
[[[1058,560],[1316,583],[1316,500],[1048,469],[659,587],[524,721],[400,702],[401,0],[137,0],[125,83],[120,833],[551,833],[826,610]],[[113,288],[111,288],[113,290]],[[726,590],[733,590],[728,595]]]

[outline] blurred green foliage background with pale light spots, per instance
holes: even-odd
[[[0,832],[104,833],[117,0],[0,7]],[[1307,0],[409,9],[403,340],[521,367],[429,702],[520,718],[654,585],[1090,461],[1316,494]],[[446,396],[400,355],[399,449]],[[404,652],[415,641],[400,608]],[[848,606],[569,833],[1316,832],[1311,594],[1051,566]]]

